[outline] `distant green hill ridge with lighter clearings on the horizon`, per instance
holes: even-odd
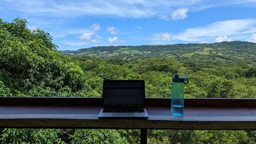
[[[214,60],[256,59],[256,43],[221,42],[212,44],[174,44],[140,46],[98,46],[65,52],[68,56],[94,58],[150,58],[168,57],[174,59],[207,58]]]

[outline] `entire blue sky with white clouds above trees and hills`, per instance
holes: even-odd
[[[19,17],[51,34],[58,50],[109,45],[256,43],[256,0],[0,0],[0,19]]]

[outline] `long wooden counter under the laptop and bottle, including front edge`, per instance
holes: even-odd
[[[255,130],[256,107],[185,107],[184,116],[171,109],[147,106],[148,119],[99,119],[101,106],[0,106],[0,127]]]

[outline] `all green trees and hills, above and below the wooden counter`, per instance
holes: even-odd
[[[186,98],[255,98],[256,44],[222,42],[108,46],[57,51],[26,20],[0,19],[0,96],[101,97],[103,79],[143,79],[147,97],[171,97],[188,74]],[[82,57],[83,56],[83,57]],[[256,143],[254,131],[149,130],[149,143]],[[0,143],[139,143],[138,130],[0,129]]]

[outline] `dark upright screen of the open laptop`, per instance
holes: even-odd
[[[103,107],[145,107],[145,82],[107,80],[103,82]]]

